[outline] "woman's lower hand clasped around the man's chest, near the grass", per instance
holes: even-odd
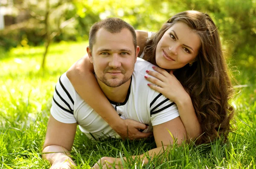
[[[128,138],[130,140],[146,138],[152,135],[152,132],[141,132],[148,128],[148,126],[145,124],[131,119],[122,119],[122,121],[120,122],[121,123],[113,125],[111,127],[117,132],[117,134],[121,136],[123,140],[125,140],[125,138]]]

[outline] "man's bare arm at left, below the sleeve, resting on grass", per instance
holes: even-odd
[[[69,168],[70,163],[75,165],[69,155],[76,135],[76,126],[76,123],[61,123],[50,115],[43,146],[43,152],[46,154],[42,157],[51,163],[51,168]]]

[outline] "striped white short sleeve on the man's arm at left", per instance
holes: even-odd
[[[61,75],[52,98],[51,115],[62,123],[76,123],[74,116],[75,89],[66,76]]]

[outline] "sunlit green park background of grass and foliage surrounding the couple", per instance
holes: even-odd
[[[52,94],[61,74],[86,54],[93,23],[119,17],[137,30],[156,32],[174,14],[186,10],[209,14],[221,34],[236,87],[230,100],[236,110],[232,122],[235,132],[229,135],[229,144],[212,144],[207,155],[200,147],[199,152],[182,146],[174,149],[179,152],[172,155],[177,162],[174,165],[239,169],[255,166],[256,0],[0,0],[2,168],[49,167],[38,152],[44,143]],[[80,164],[88,161],[93,165],[94,158],[109,153],[115,156],[122,149],[120,146],[112,151],[109,148],[116,144],[108,149],[100,144],[105,152],[94,155],[96,147],[80,133],[71,152]],[[131,145],[135,146],[130,146],[129,151],[138,152],[140,144]],[[143,144],[140,151],[144,152],[147,145]]]

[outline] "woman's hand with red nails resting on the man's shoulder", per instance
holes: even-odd
[[[171,101],[174,101],[176,104],[179,103],[179,101],[182,101],[183,99],[186,99],[189,97],[189,94],[180,84],[178,79],[173,75],[172,71],[168,73],[166,70],[157,68],[155,66],[153,66],[152,68],[156,70],[156,72],[146,70],[146,73],[148,73],[148,75],[151,75],[153,77],[145,75],[145,78],[149,82],[154,84],[154,85],[148,84],[148,86],[151,89],[154,89],[159,93],[162,93],[164,96],[169,98]]]

